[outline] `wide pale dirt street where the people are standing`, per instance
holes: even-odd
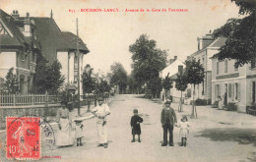
[[[54,150],[43,148],[42,156],[61,156],[61,161],[256,161],[256,123],[253,116],[198,106],[198,118],[188,118],[191,129],[187,147],[179,146],[178,128],[174,128],[174,146],[161,147],[159,103],[132,94],[117,95],[110,100],[108,148],[96,146],[96,118],[93,118],[83,122],[83,146]],[[179,122],[182,114],[190,114],[191,105],[184,105],[182,113],[177,112],[177,105],[173,103],[171,107],[176,111]],[[141,143],[131,142],[130,118],[135,108],[144,119]]]

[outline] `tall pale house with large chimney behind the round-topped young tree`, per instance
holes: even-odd
[[[224,45],[225,38],[214,39],[210,33],[198,38],[198,51],[190,55],[190,58],[200,60],[205,69],[204,81],[195,86],[195,99],[205,99],[210,103],[212,99],[212,60],[214,54],[218,53],[220,47]],[[194,86],[189,84],[187,90],[194,91]]]

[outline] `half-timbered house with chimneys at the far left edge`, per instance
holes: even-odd
[[[14,68],[20,92],[30,92],[40,51],[30,14],[20,17],[18,11],[8,15],[0,9],[0,42],[0,78],[3,80],[9,69]]]

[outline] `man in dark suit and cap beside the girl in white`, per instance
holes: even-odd
[[[163,142],[161,146],[167,145],[167,132],[169,132],[169,146],[173,146],[173,125],[177,123],[176,113],[170,107],[170,100],[166,100],[160,115],[160,123],[163,129]]]

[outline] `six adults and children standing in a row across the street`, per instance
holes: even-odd
[[[92,110],[92,113],[96,117],[96,130],[98,136],[98,145],[107,148],[107,128],[106,128],[106,116],[110,115],[109,107],[104,103],[103,98],[97,98],[97,105]],[[178,127],[180,129],[181,146],[186,146],[187,135],[189,134],[189,124],[186,116],[182,116],[181,122],[177,124],[176,114],[173,108],[170,107],[171,101],[167,100],[163,104],[163,108],[160,114],[160,123],[163,130],[163,141],[161,146],[173,146],[173,129]],[[57,146],[73,145],[72,135],[72,120],[69,116],[69,110],[66,107],[65,102],[61,102],[61,108],[57,111],[57,122],[59,127],[58,137],[56,138]],[[135,142],[135,135],[138,135],[138,142],[141,142],[141,126],[143,118],[138,115],[138,110],[134,109],[134,115],[131,117],[130,125],[132,130],[132,141]],[[75,137],[77,139],[77,146],[82,146],[83,124],[82,120],[74,120],[76,123]],[[169,138],[167,140],[167,134]]]

